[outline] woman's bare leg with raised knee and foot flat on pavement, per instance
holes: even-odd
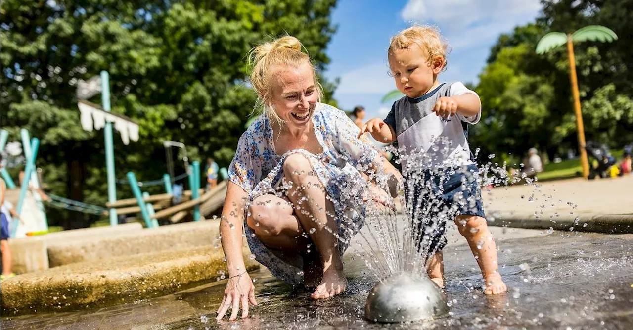
[[[338,239],[334,236],[338,232],[332,217],[334,206],[327,200],[323,184],[305,156],[288,156],[284,162],[284,175],[292,184],[288,198],[295,207],[294,214],[314,242],[323,265],[323,280],[312,298],[323,299],[338,295],[347,288],[347,280],[343,274]]]

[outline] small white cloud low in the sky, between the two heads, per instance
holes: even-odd
[[[392,77],[387,75],[389,67],[384,62],[372,63],[343,73],[337,94],[386,94],[396,88]]]

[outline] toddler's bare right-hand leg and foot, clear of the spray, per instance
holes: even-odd
[[[486,219],[476,215],[460,215],[455,220],[461,236],[468,241],[468,246],[472,251],[481,274],[486,282],[486,295],[497,295],[508,291],[506,284],[499,274],[497,262],[497,247],[492,239],[492,234],[488,230]]]

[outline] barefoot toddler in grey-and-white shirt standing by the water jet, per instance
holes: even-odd
[[[434,198],[448,208],[457,211],[454,219],[460,234],[466,238],[482,276],[486,282],[484,293],[494,295],[507,291],[499,274],[497,251],[489,231],[481,201],[477,174],[479,170],[472,160],[467,141],[467,124],[477,124],[481,117],[479,96],[461,82],[441,84],[437,76],[446,68],[448,44],[437,29],[429,26],[414,26],[401,31],[391,39],[388,60],[396,86],[405,96],[394,103],[387,118],[373,118],[361,127],[360,134],[370,132],[381,143],[398,140],[404,153],[422,149],[434,156],[432,160],[416,162],[416,167],[407,167],[403,157],[408,213],[422,217],[425,203],[434,203]],[[359,136],[360,136],[359,134]],[[448,139],[450,148],[439,146],[438,137]],[[440,148],[438,148],[440,147]],[[434,152],[444,148],[444,155]],[[448,152],[447,152],[448,151]],[[424,181],[417,179],[422,170]],[[414,174],[415,172],[415,174]],[[436,175],[436,174],[441,175]],[[413,176],[416,175],[416,176]],[[438,177],[442,179],[438,179]],[[430,183],[433,197],[423,196]],[[422,195],[422,196],[421,196]],[[418,200],[422,197],[422,200]],[[470,203],[458,203],[458,200]],[[411,200],[412,199],[412,200]],[[446,245],[446,217],[439,212],[433,216],[439,228],[432,232],[427,273],[440,287],[444,287],[444,265],[442,248]],[[421,229],[420,232],[426,232]]]

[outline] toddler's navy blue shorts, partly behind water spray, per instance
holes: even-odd
[[[404,181],[406,212],[417,228],[415,241],[427,258],[446,246],[446,221],[458,215],[485,218],[477,165],[420,170]]]

